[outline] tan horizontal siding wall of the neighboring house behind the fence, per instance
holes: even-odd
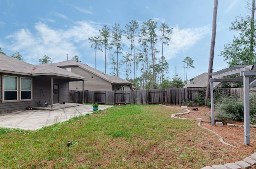
[[[77,75],[88,79],[87,81],[84,81],[84,90],[112,90],[111,83],[80,67],[72,67],[72,73],[76,73]],[[69,89],[82,90],[82,82],[70,82]]]

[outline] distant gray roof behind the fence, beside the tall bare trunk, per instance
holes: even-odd
[[[189,87],[207,87],[207,80],[208,80],[208,73],[202,73],[201,75],[198,75],[192,79],[190,79],[190,84],[185,84],[185,88]],[[217,85],[220,82],[214,82],[214,86]]]

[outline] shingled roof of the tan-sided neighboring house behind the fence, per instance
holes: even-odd
[[[110,76],[106,73],[103,73],[102,71],[99,71],[97,69],[94,69],[84,63],[75,61],[75,60],[69,60],[69,61],[63,61],[63,62],[59,62],[59,63],[52,63],[53,65],[56,65],[58,67],[72,67],[72,66],[78,66],[98,77],[101,77],[102,79],[108,81],[109,83],[112,84],[127,84],[127,85],[134,85],[133,83],[130,83],[120,77],[116,77],[116,76]]]

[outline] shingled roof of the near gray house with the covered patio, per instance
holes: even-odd
[[[52,64],[32,65],[2,53],[0,53],[0,72],[27,76],[54,75],[73,80],[87,80],[85,77],[63,70]]]

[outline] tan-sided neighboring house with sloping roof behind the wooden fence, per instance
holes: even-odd
[[[82,82],[70,82],[70,90],[132,90],[133,83],[130,83],[120,77],[112,77],[102,71],[94,69],[84,63],[69,60],[59,63],[53,63],[66,71],[70,71],[88,79]]]

